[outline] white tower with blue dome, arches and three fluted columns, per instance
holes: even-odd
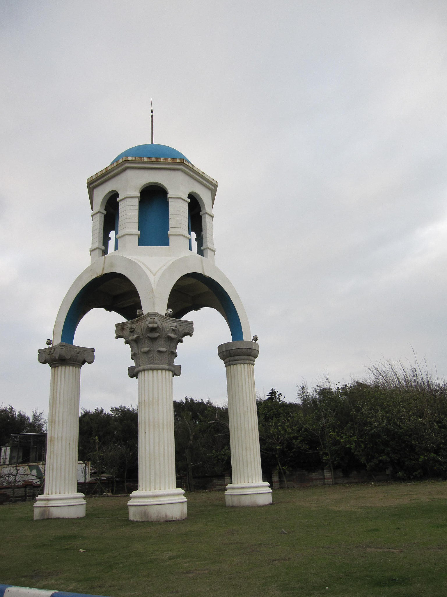
[[[202,307],[218,310],[232,337],[218,347],[231,443],[226,505],[271,503],[271,489],[262,481],[254,389],[259,347],[237,292],[214,263],[218,184],[182,153],[151,143],[120,153],[87,187],[91,264],[61,304],[52,346],[39,350],[39,362],[51,367],[51,386],[45,493],[36,499],[34,518],[85,516],[83,494],[76,490],[79,381],[94,349],[73,343],[80,319],[97,307],[127,320],[116,325],[116,337],[131,347],[128,373],[138,378],[138,490],[131,494],[129,518],[187,516],[187,499],[175,482],[172,378],[180,374],[176,347],[193,334],[193,322],[182,318]]]

